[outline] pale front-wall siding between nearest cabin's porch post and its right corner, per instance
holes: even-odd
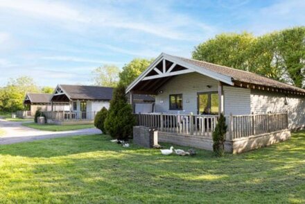
[[[224,114],[251,114],[250,90],[223,86]]]

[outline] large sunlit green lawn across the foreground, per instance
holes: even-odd
[[[0,184],[3,203],[305,203],[305,132],[224,158],[164,156],[103,135],[10,144]]]

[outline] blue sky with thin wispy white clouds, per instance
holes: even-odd
[[[218,33],[304,26],[305,1],[0,0],[0,86],[90,84],[104,64],[165,52],[190,57]]]

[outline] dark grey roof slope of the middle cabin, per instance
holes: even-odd
[[[70,100],[96,100],[110,101],[112,87],[99,87],[90,85],[58,85]]]

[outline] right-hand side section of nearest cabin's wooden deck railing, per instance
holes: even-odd
[[[228,128],[231,139],[272,133],[288,128],[288,113],[230,115]]]

